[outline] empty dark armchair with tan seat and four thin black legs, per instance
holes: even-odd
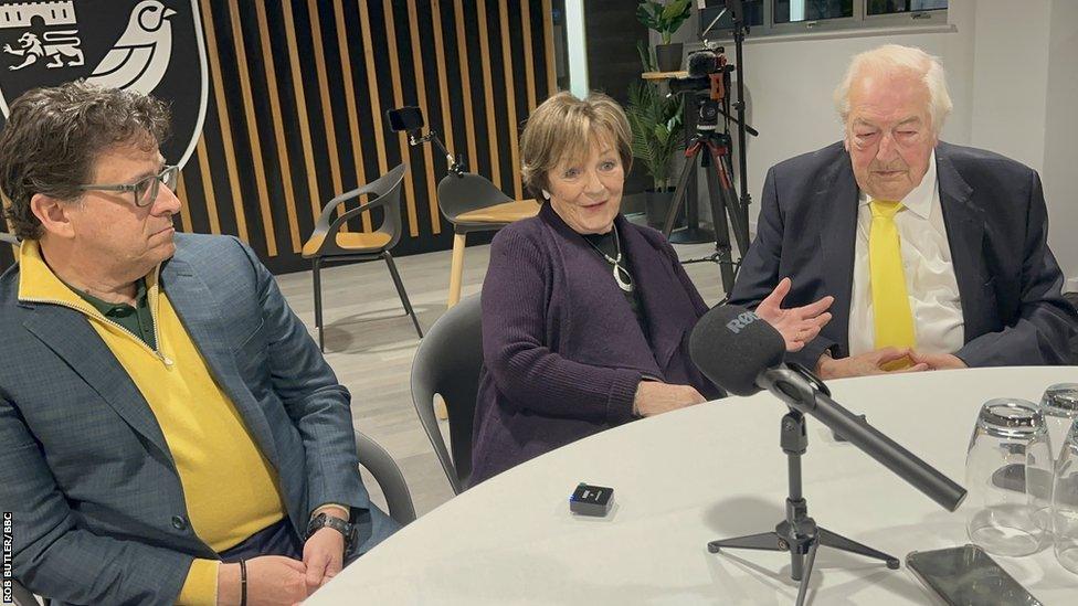
[[[384,259],[385,265],[389,266],[390,276],[393,277],[393,284],[397,286],[397,294],[400,295],[401,302],[404,304],[404,311],[412,317],[416,334],[421,339],[423,338],[419,318],[412,310],[412,304],[408,300],[408,293],[404,291],[404,283],[401,281],[397,265],[393,264],[393,255],[390,254],[390,249],[397,246],[401,240],[401,184],[404,182],[405,170],[405,164],[400,164],[376,181],[330,200],[323,209],[321,216],[315,224],[314,233],[304,244],[303,257],[311,259],[314,266],[315,325],[318,326],[318,347],[323,351],[326,350],[326,347],[323,339],[321,267],[336,262]],[[342,213],[330,222],[337,206],[361,195],[373,196],[373,199],[357,209]],[[384,219],[378,231],[371,233],[340,231],[348,220],[378,208],[384,212]]]

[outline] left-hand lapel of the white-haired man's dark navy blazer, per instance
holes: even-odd
[[[821,188],[810,195],[811,209],[821,209],[820,251],[823,255],[825,295],[833,295],[832,320],[827,328],[834,341],[849,352],[849,300],[854,286],[854,243],[857,236],[857,181],[849,163],[849,155],[843,153],[821,180]],[[810,259],[803,259],[807,263]],[[793,285],[797,288],[799,285]],[[803,286],[803,285],[802,285]]]

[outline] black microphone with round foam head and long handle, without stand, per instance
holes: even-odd
[[[704,315],[689,337],[689,355],[705,376],[737,395],[768,390],[810,414],[948,511],[965,489],[831,398],[812,373],[786,365],[785,341],[754,312],[733,305]]]

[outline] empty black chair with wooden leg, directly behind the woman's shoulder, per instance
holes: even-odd
[[[471,232],[492,232],[514,221],[535,216],[539,203],[514,200],[487,179],[473,172],[451,172],[438,182],[438,209],[453,224],[453,261],[450,265],[450,297],[453,307],[461,300],[464,277],[464,247]]]

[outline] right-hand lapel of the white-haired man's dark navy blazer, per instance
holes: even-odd
[[[984,211],[972,203],[973,188],[951,163],[947,143],[936,148],[936,170],[940,182],[940,205],[951,247],[951,263],[962,299],[965,334],[985,332],[977,322],[986,316],[984,298]],[[966,339],[969,340],[969,339]]]

